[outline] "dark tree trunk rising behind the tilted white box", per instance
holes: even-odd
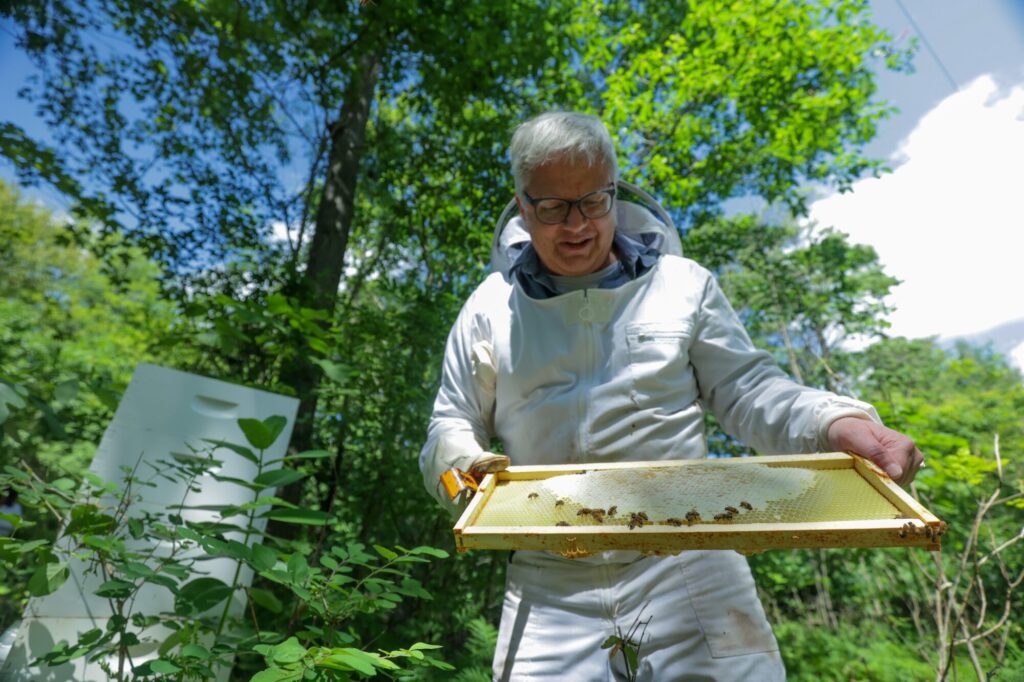
[[[359,57],[338,120],[332,126],[324,193],[316,211],[306,270],[299,287],[299,297],[304,306],[332,314],[345,265],[345,251],[355,208],[355,183],[380,70],[380,51],[371,51]],[[299,398],[299,412],[292,434],[292,447],[297,452],[313,447],[313,416],[319,379],[321,370],[308,353],[296,355],[282,369],[282,383],[294,388]],[[300,492],[301,483],[293,483],[278,494],[289,502],[297,503]]]

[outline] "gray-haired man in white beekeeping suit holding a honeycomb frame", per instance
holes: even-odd
[[[665,225],[615,199],[598,119],[539,116],[510,156],[528,242],[510,246],[510,271],[480,285],[447,339],[420,457],[441,504],[450,467],[702,458],[706,409],[762,453],[849,451],[913,478],[923,460],[909,438],[870,406],[790,380],[711,274],[663,253]],[[492,437],[507,457],[486,452]],[[638,679],[785,677],[742,556],[616,551],[514,554],[495,679],[621,678],[623,656],[600,645],[639,617],[650,622]]]

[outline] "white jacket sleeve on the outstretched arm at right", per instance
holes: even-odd
[[[828,451],[828,427],[841,417],[881,423],[866,402],[808,388],[786,376],[751,342],[710,272],[690,361],[700,397],[722,428],[764,455]]]

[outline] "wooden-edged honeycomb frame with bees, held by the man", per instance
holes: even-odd
[[[510,467],[487,475],[456,547],[603,550],[922,547],[945,523],[873,464],[843,453]]]

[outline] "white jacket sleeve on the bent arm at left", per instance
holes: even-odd
[[[441,383],[420,451],[423,483],[442,507],[452,508],[440,475],[451,467],[469,471],[494,433],[495,359],[489,322],[474,312],[477,296],[463,306],[444,347]]]

